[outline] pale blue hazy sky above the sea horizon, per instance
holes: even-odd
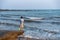
[[[0,0],[0,9],[60,9],[60,0]]]

